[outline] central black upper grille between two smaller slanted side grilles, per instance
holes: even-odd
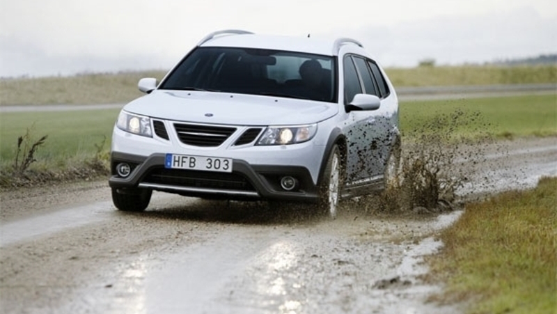
[[[182,143],[203,147],[219,146],[236,131],[235,127],[190,125],[182,123],[175,123],[174,128]]]

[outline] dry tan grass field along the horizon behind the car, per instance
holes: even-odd
[[[394,86],[539,84],[557,82],[557,65],[436,66],[387,68]],[[0,106],[15,104],[113,104],[130,102],[141,93],[142,77],[162,79],[165,70],[82,74],[74,77],[0,79]]]

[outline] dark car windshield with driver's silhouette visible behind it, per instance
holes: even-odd
[[[334,102],[334,58],[300,52],[198,47],[159,89],[219,91]]]

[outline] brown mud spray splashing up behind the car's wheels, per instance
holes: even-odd
[[[495,141],[489,123],[477,112],[457,109],[409,123],[417,127],[402,134],[395,178],[379,196],[353,201],[368,213],[442,212],[460,207],[466,195],[459,189],[476,176],[487,147]]]

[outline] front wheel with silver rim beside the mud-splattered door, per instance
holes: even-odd
[[[340,150],[335,145],[327,160],[327,166],[324,168],[319,187],[319,210],[323,214],[328,214],[332,219],[336,218],[338,201],[340,200],[340,187],[343,183],[341,160]]]

